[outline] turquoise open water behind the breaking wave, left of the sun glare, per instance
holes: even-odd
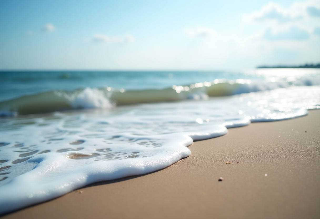
[[[113,87],[165,89],[214,79],[253,78],[244,72],[208,71],[25,71],[0,72],[0,101],[52,90]],[[262,80],[263,77],[255,77]]]

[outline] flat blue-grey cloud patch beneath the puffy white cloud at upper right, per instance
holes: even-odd
[[[271,28],[267,29],[264,38],[267,40],[306,40],[309,39],[309,33],[297,27],[291,27],[288,30],[272,33]]]

